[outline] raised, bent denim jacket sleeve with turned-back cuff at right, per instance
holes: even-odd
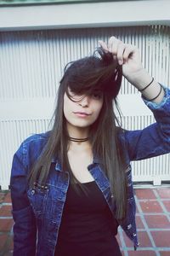
[[[125,141],[130,160],[143,160],[170,152],[170,90],[164,87],[165,96],[156,104],[144,100],[156,123],[143,130],[125,131]]]

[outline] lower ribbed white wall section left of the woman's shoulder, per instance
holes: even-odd
[[[2,189],[8,189],[13,155],[19,148],[20,143],[34,133],[48,131],[49,127],[49,119],[11,119],[0,121],[0,141],[3,146],[0,154],[0,183]]]

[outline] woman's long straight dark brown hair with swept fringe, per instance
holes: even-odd
[[[102,161],[102,169],[109,178],[111,194],[116,203],[116,218],[126,215],[127,183],[125,177],[125,160],[119,140],[121,125],[116,118],[113,102],[117,106],[116,96],[122,83],[122,67],[113,60],[110,53],[97,49],[94,55],[72,61],[65,67],[65,73],[59,83],[58,101],[54,111],[54,125],[49,132],[48,141],[37,162],[32,166],[29,183],[35,181],[46,183],[51,160],[55,156],[62,170],[69,172],[71,183],[80,183],[71,172],[67,157],[68,132],[66,130],[64,95],[69,95],[68,88],[79,94],[91,94],[100,91],[104,102],[98,119],[90,126],[89,139],[95,155]]]

